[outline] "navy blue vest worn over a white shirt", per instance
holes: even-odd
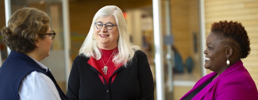
[[[67,100],[50,72],[46,72],[29,56],[15,51],[11,51],[0,68],[0,100],[19,100],[19,85],[22,79],[33,71],[42,72],[51,78],[60,98]]]

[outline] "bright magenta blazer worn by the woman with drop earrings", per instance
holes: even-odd
[[[212,72],[202,77],[180,100],[215,75],[217,73]],[[239,60],[203,88],[192,100],[258,100],[258,92],[249,72]]]

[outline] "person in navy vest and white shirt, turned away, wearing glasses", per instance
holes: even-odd
[[[49,56],[56,33],[49,16],[36,8],[15,11],[2,28],[5,44],[12,50],[0,68],[1,100],[65,100],[49,69],[40,63]]]

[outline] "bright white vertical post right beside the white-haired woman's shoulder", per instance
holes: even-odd
[[[161,0],[152,0],[157,100],[165,100]]]

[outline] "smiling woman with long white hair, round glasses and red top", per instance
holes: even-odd
[[[147,56],[129,40],[120,8],[105,6],[73,61],[66,96],[84,100],[154,100]]]

